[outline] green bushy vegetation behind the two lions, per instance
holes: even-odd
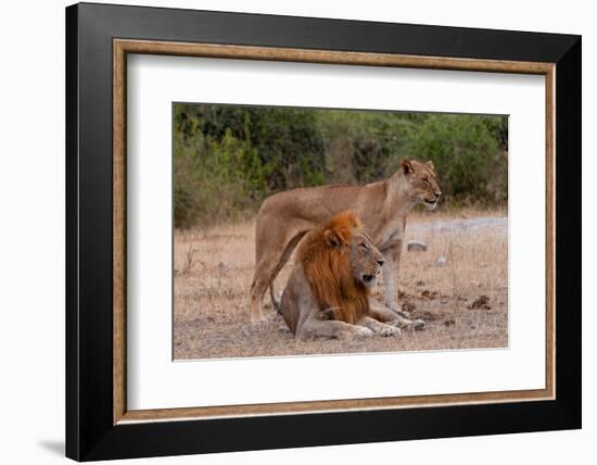
[[[452,206],[503,206],[507,116],[218,104],[174,106],[175,225],[240,221],[280,190],[366,184],[432,160]]]

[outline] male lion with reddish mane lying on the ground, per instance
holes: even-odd
[[[383,264],[383,255],[363,232],[354,212],[339,213],[305,237],[275,306],[301,340],[397,336],[398,326],[424,325],[370,304]]]

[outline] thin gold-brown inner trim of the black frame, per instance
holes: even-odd
[[[545,76],[546,99],[546,379],[545,389],[409,395],[331,401],[283,402],[185,409],[127,410],[126,399],[126,70],[127,53],[287,61],[431,70],[480,71]],[[415,56],[270,47],[113,40],[113,422],[207,419],[338,411],[388,410],[555,399],[555,63]]]

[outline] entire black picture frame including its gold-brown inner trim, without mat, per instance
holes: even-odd
[[[128,410],[126,56],[131,53],[544,75],[545,389]],[[579,36],[68,7],[66,455],[92,461],[580,428],[581,103]]]

